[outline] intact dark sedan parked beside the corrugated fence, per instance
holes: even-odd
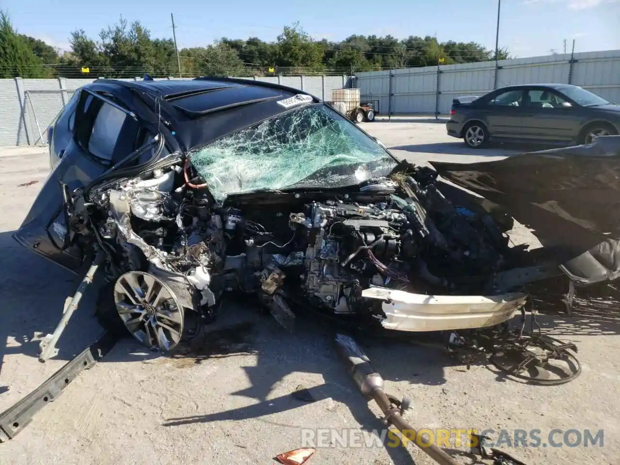
[[[569,84],[528,84],[453,100],[448,135],[471,148],[489,141],[564,146],[620,133],[620,105]]]

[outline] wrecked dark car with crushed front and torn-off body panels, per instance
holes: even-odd
[[[523,312],[527,283],[620,237],[591,195],[609,206],[617,192],[613,156],[414,166],[310,94],[231,78],[99,79],[66,112],[51,131],[70,141],[14,234],[86,276],[43,359],[95,272],[100,323],[169,351],[227,292],[287,329],[305,311],[382,330],[498,327]],[[513,218],[549,247],[512,246]]]

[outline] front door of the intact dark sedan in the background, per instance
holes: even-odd
[[[525,95],[523,138],[532,141],[570,142],[579,131],[575,108],[559,92],[549,87],[532,87]]]

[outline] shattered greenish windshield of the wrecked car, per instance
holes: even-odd
[[[388,174],[396,161],[324,104],[297,108],[189,154],[213,197],[286,187],[343,187]]]

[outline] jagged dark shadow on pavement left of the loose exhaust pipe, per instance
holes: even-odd
[[[312,324],[311,321],[305,319],[299,321],[298,329],[293,334],[282,329],[270,316],[263,316],[261,319],[264,321],[256,321],[255,324],[234,324],[224,331],[215,330],[213,331],[215,338],[211,339],[207,336],[205,339],[207,347],[213,347],[213,341],[226,333],[229,337],[224,338],[224,341],[228,339],[228,342],[216,343],[216,345],[224,346],[222,352],[228,352],[226,356],[232,356],[236,350],[257,355],[255,365],[241,367],[250,381],[250,387],[233,392],[231,395],[255,399],[258,403],[235,409],[223,409],[212,414],[167,418],[162,425],[177,427],[192,423],[236,421],[260,417],[262,421],[270,422],[271,420],[268,419],[270,415],[298,409],[306,404],[306,401],[295,397],[293,391],[278,397],[271,397],[270,394],[277,389],[281,381],[294,372],[319,373],[324,379],[324,384],[308,387],[305,395],[311,397],[311,401],[324,402],[326,406],[334,403],[345,405],[360,428],[371,435],[376,435],[376,440],[381,441],[378,435],[384,425],[368,409],[367,401],[358,392],[344,366],[340,363],[334,348],[333,334],[325,331],[321,325]],[[204,354],[205,351],[197,347],[194,350],[197,350],[199,354],[197,360],[200,360],[203,357],[200,354]],[[211,357],[215,356],[210,350],[206,352],[210,352]],[[381,372],[384,368],[383,364],[379,360],[375,362],[375,368]],[[430,365],[432,365],[430,369],[436,372],[432,377],[443,379],[443,367]],[[420,382],[423,381],[425,380],[420,380]],[[299,417],[298,424],[286,426],[303,428],[304,418]],[[344,425],[336,427],[342,428]],[[350,426],[349,428],[356,427]],[[389,438],[386,436],[383,438],[384,446],[387,441]],[[385,449],[393,463],[415,464],[407,449],[388,446],[385,446]]]

